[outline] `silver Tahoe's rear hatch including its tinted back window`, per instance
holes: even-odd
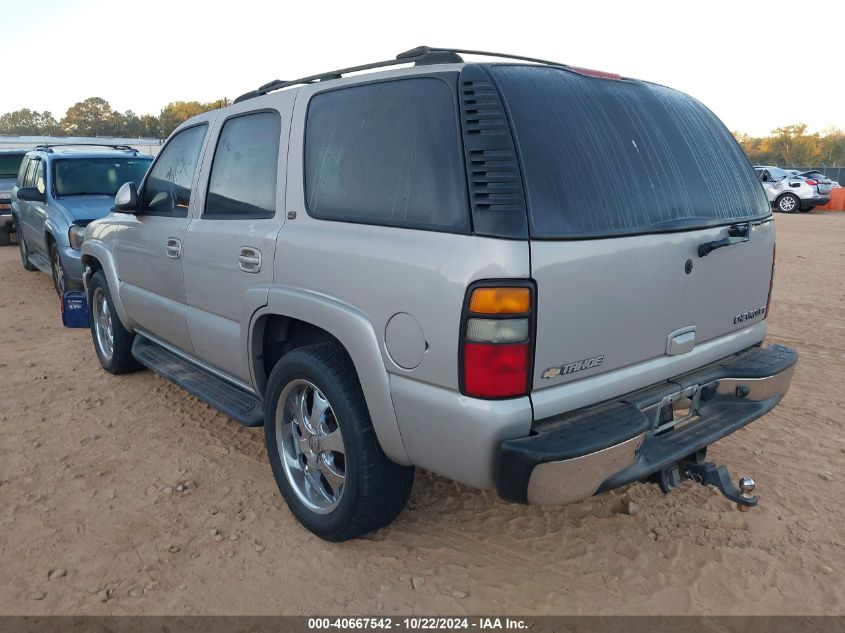
[[[648,364],[626,372],[626,387],[645,387],[762,340],[764,326],[751,342],[735,334],[765,318],[774,225],[712,112],[640,81],[525,65],[491,74],[525,183],[535,395]]]

